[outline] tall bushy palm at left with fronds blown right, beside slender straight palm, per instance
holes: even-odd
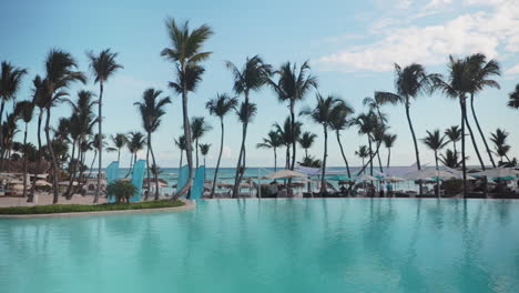
[[[58,203],[59,200],[59,165],[54,150],[52,148],[52,139],[50,137],[50,120],[51,120],[51,109],[55,107],[63,97],[68,95],[67,89],[72,82],[80,81],[82,83],[86,82],[86,78],[83,72],[75,71],[78,64],[74,58],[62,50],[52,49],[47,55],[45,60],[45,78],[43,82],[45,83],[45,92],[42,94],[44,99],[44,109],[47,113],[45,118],[45,138],[47,144],[49,145],[49,152],[51,156],[52,168],[53,168],[53,200],[52,203]]]

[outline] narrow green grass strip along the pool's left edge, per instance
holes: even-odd
[[[50,204],[34,206],[9,206],[0,208],[0,214],[52,214],[52,213],[78,213],[78,212],[102,212],[122,210],[142,210],[176,208],[184,205],[182,201],[160,200],[133,203],[103,203],[103,204]]]

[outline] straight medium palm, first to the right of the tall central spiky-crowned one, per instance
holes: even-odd
[[[326,192],[325,176],[326,176],[326,158],[328,156],[328,128],[332,124],[335,111],[343,111],[340,104],[344,103],[337,97],[328,95],[324,98],[319,93],[316,94],[317,104],[314,109],[305,108],[299,114],[308,115],[311,119],[320,125],[323,125],[324,132],[324,154],[323,154],[323,168],[320,174],[320,194]]]

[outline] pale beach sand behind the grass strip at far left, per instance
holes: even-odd
[[[32,205],[45,205],[52,204],[52,193],[39,193],[37,194],[38,202],[27,202],[27,198],[14,198],[14,196],[0,196],[0,208],[4,206],[32,206]],[[93,195],[82,196],[80,194],[74,194],[72,200],[67,200],[63,196],[60,196],[58,204],[93,204]],[[99,203],[105,203],[105,198],[100,198]]]

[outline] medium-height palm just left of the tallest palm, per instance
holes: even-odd
[[[146,89],[142,94],[142,101],[133,103],[139,107],[139,112],[142,118],[142,128],[147,133],[146,142],[147,150],[152,155],[153,165],[156,165],[155,154],[152,148],[152,133],[155,132],[161,125],[161,118],[165,114],[164,107],[171,103],[170,97],[159,99],[162,91],[155,89]],[[147,175],[150,178],[150,174]],[[155,173],[155,201],[159,200],[159,178]],[[147,188],[150,189],[150,181],[147,181]]]

